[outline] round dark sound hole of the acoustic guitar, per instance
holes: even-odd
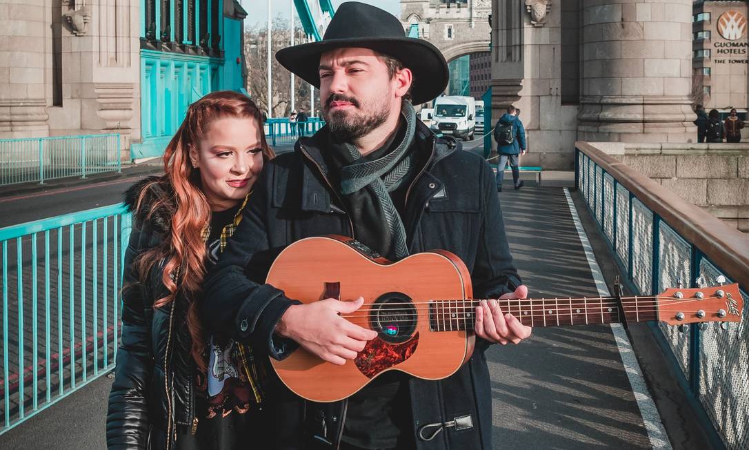
[[[401,293],[383,294],[369,312],[369,326],[391,344],[408,341],[416,332],[416,320],[413,301]]]

